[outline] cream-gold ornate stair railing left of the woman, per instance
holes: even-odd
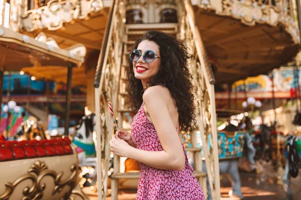
[[[109,140],[112,137],[114,120],[110,114],[108,102],[112,103],[114,113],[117,113],[116,104],[125,23],[124,2],[122,0],[113,0],[112,2],[113,6],[108,17],[94,80],[98,199],[105,199],[108,170],[112,162]]]

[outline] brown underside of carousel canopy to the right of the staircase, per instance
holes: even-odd
[[[241,5],[242,11],[244,8],[248,13],[248,8]],[[299,51],[295,22],[255,19],[246,22],[246,16],[242,14],[234,17],[232,12],[225,10],[217,14],[200,6],[196,7],[196,13],[209,58],[216,67],[217,83],[267,73],[291,61]],[[275,16],[270,15],[272,17]]]

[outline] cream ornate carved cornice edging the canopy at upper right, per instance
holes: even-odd
[[[255,23],[267,23],[276,26],[282,23],[285,30],[292,36],[295,43],[300,43],[299,30],[296,21],[291,15],[291,1],[276,1],[273,4],[269,0],[221,0],[222,8],[213,7],[209,0],[199,0],[198,6],[203,9],[214,9],[219,15],[232,16],[240,19],[246,25]]]

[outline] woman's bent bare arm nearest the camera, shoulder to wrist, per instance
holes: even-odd
[[[168,89],[159,85],[149,87],[143,94],[143,101],[164,150],[145,151],[129,147],[124,152],[125,157],[159,169],[182,170],[185,155],[168,110],[168,103],[173,102]]]

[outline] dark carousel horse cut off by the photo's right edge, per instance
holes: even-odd
[[[285,170],[282,177],[283,188],[289,200],[293,200],[293,194],[290,189],[290,177],[297,177],[301,165],[301,135],[289,135],[287,137],[285,149]]]

